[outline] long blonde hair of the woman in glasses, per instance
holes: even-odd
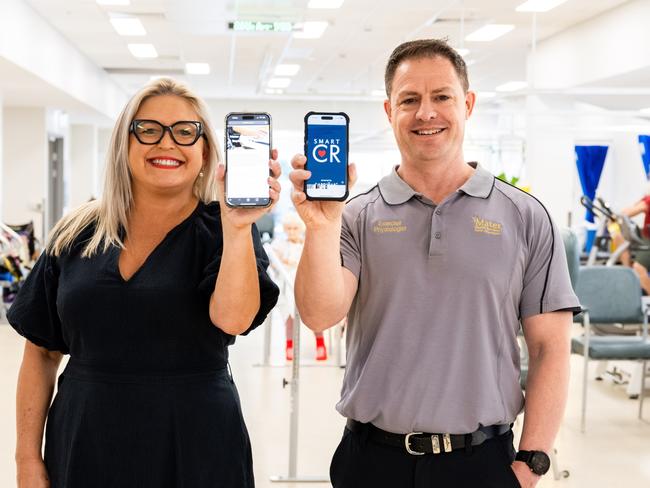
[[[106,155],[104,192],[101,199],[81,205],[54,226],[47,245],[50,254],[59,256],[69,249],[81,231],[93,223],[95,231],[87,241],[82,257],[91,257],[100,248],[101,252],[106,252],[111,246],[124,248],[120,230],[124,229],[128,233],[128,217],[133,205],[129,171],[129,127],[145,100],[162,95],[174,95],[184,99],[202,122],[207,139],[205,152],[208,157],[203,163],[203,177],[198,177],[194,182],[193,193],[204,203],[217,199],[216,174],[221,157],[209,120],[208,107],[183,83],[172,78],[158,78],[138,91],[117,118]]]

